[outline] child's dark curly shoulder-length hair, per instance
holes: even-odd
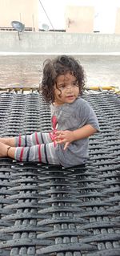
[[[57,82],[58,75],[64,75],[67,72],[76,77],[79,92],[82,95],[85,87],[85,73],[82,65],[71,56],[61,55],[52,60],[46,59],[43,64],[41,88],[46,103],[54,102],[54,84]]]

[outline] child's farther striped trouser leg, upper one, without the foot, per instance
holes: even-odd
[[[34,132],[31,135],[15,137],[16,147],[31,147],[37,144],[46,144],[52,142],[53,132]]]

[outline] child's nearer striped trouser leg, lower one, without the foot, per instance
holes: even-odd
[[[18,161],[38,161],[46,164],[60,165],[55,152],[54,142],[31,147],[17,147],[14,158]]]

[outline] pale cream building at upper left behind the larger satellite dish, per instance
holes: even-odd
[[[14,20],[38,31],[38,0],[0,0],[0,29],[12,30]]]

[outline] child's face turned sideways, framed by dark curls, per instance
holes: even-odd
[[[71,104],[78,98],[78,81],[69,72],[66,75],[58,75],[57,85],[54,85],[54,104]]]

